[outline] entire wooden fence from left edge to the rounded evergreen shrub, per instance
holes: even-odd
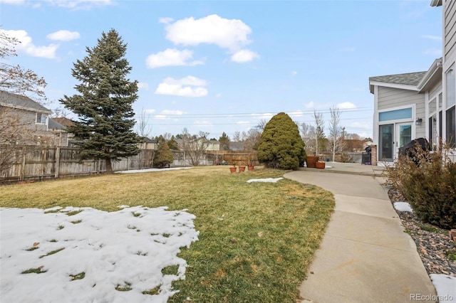
[[[0,155],[8,148],[0,146]],[[12,164],[8,169],[0,171],[0,183],[17,181],[40,181],[58,179],[68,176],[84,176],[101,174],[106,171],[104,160],[80,160],[79,147],[18,147],[14,151]],[[113,161],[113,171],[128,171],[130,169],[150,169],[155,156],[152,149],[141,149],[140,154]],[[190,166],[185,151],[172,151],[174,161],[171,167]],[[199,165],[235,164],[255,165],[257,151],[207,151],[199,160]]]

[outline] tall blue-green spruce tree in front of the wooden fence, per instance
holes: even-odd
[[[83,60],[74,63],[72,75],[80,84],[79,94],[59,100],[78,115],[68,127],[81,147],[81,158],[104,159],[106,172],[113,172],[111,161],[138,154],[141,141],[133,127],[133,102],[138,99],[138,81],[126,78],[130,70],[125,59],[127,45],[117,31],[102,33],[98,44],[86,48]]]

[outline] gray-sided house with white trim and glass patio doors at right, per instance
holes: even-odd
[[[442,58],[428,70],[369,78],[374,96],[373,143],[377,161],[394,161],[398,149],[426,138],[456,147],[456,1],[432,0],[442,8]]]

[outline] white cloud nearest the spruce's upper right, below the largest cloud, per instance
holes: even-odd
[[[145,60],[147,68],[160,68],[162,66],[177,65],[199,65],[202,61],[192,60],[193,52],[191,50],[177,50],[167,48],[164,51],[149,55]]]

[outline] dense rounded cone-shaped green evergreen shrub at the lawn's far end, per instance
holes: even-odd
[[[284,112],[272,117],[259,139],[258,161],[274,169],[304,166],[306,151],[296,123]]]

